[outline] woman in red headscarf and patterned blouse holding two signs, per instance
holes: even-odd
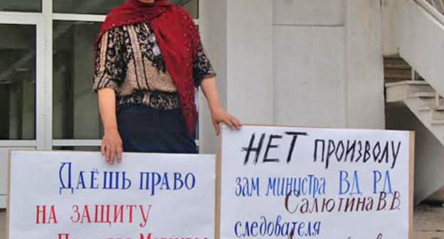
[[[95,41],[95,76],[112,164],[122,152],[196,154],[195,87],[218,124],[239,128],[221,107],[211,67],[193,18],[166,0],[127,0],[102,23]]]

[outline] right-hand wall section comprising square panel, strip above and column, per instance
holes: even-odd
[[[379,1],[277,0],[274,15],[275,123],[384,129]]]

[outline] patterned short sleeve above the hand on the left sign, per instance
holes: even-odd
[[[123,28],[107,31],[100,38],[95,53],[93,90],[110,87],[118,90],[125,79],[127,65],[124,57]]]

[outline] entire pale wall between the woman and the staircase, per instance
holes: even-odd
[[[384,129],[379,1],[201,5],[207,50],[226,73],[218,76],[223,101],[244,123]],[[208,113],[201,115],[201,149],[215,152]]]

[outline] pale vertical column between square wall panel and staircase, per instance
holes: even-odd
[[[347,127],[384,129],[381,5],[347,0]]]

